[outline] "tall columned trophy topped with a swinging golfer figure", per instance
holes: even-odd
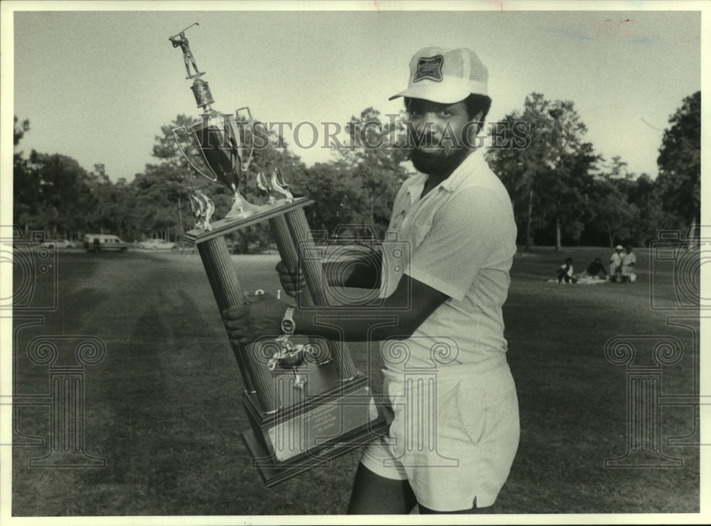
[[[304,207],[314,202],[294,198],[279,168],[269,176],[257,174],[257,187],[267,203],[257,206],[242,198],[240,178],[249,166],[253,145],[246,146],[239,133],[235,115],[240,110],[235,115],[220,114],[210,106],[214,101],[208,83],[201,78],[204,73],[195,65],[185,31],[170,40],[183,50],[187,78],[193,80],[191,90],[203,114],[200,124],[183,129],[210,174],[199,170],[188,152],[180,151],[198,173],[225,184],[234,196],[230,213],[210,222],[214,210],[210,198],[202,193],[194,195],[191,205],[196,225],[183,237],[198,248],[220,313],[245,304],[225,235],[260,222],[269,223],[282,261],[304,273],[306,289],[299,302],[326,305],[322,263],[318,255],[314,257],[322,256],[324,247],[316,245],[304,214]],[[191,66],[196,72],[193,75]],[[251,121],[251,113],[247,113]],[[173,131],[176,142],[177,130]],[[333,458],[368,444],[387,427],[370,392],[368,377],[356,369],[343,341],[264,335],[250,345],[230,343],[244,381],[240,398],[250,421],[242,440],[267,486],[328,465]]]

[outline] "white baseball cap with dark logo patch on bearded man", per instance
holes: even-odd
[[[454,104],[470,93],[488,95],[488,70],[468,48],[422,48],[410,60],[407,90],[397,97],[413,97]]]

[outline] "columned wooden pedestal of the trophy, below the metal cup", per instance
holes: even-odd
[[[215,221],[212,230],[186,233],[184,239],[198,247],[220,312],[245,304],[224,236],[263,221],[269,222],[282,261],[304,271],[307,289],[301,301],[326,304],[321,261],[299,258],[319,251],[303,210],[311,203],[306,198],[277,201],[246,218]],[[233,344],[232,350],[245,380],[242,403],[251,424],[242,439],[267,486],[327,466],[332,458],[368,444],[384,431],[385,419],[373,401],[368,377],[355,368],[345,343],[320,338],[325,359],[305,359],[297,367],[272,363],[270,368],[268,345],[274,345],[279,335],[264,336],[264,341],[250,345]],[[319,341],[308,336],[293,339]]]

